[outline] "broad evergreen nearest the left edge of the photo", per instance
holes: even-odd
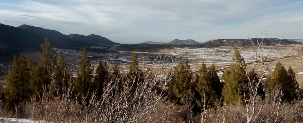
[[[13,59],[12,68],[6,76],[6,88],[4,89],[5,101],[12,107],[18,103],[29,100],[32,95],[30,89],[30,67],[25,57],[21,54],[19,58]]]

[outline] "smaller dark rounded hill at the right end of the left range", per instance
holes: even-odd
[[[92,44],[100,44],[100,45],[121,45],[116,42],[112,42],[111,40],[102,37],[100,35],[78,35],[78,34],[70,34],[67,35],[67,37],[71,38],[73,41],[78,41],[78,42],[87,42],[87,43],[92,43]]]

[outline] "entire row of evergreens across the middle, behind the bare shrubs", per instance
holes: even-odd
[[[130,91],[135,95],[138,86],[145,81],[145,76],[150,69],[142,69],[138,65],[135,54],[129,64],[129,71],[123,74],[118,66],[114,64],[109,67],[106,62],[99,62],[94,75],[94,67],[91,65],[87,51],[82,49],[82,56],[78,62],[77,77],[73,78],[62,55],[52,50],[51,44],[47,38],[41,45],[42,53],[39,53],[40,59],[37,64],[21,54],[13,58],[12,68],[6,76],[6,88],[1,94],[1,98],[13,107],[24,101],[41,100],[45,98],[60,98],[64,91],[72,89],[73,99],[88,103],[89,99],[97,96],[98,100],[105,93],[106,84],[117,84],[115,91]],[[225,71],[223,80],[220,81],[215,65],[207,68],[202,63],[198,73],[191,73],[191,67],[187,61],[179,62],[171,69],[171,78],[169,87],[165,90],[169,94],[169,99],[179,105],[185,105],[187,98],[192,98],[191,105],[195,112],[201,112],[205,108],[215,107],[216,105],[226,104],[244,104],[245,97],[248,98],[248,79],[258,83],[258,74],[250,71],[250,76],[246,76],[245,70],[241,67],[244,63],[240,52],[235,49],[232,60],[234,64]],[[114,82],[112,82],[114,80]],[[111,82],[110,82],[111,81]],[[161,81],[159,82],[159,86]],[[280,62],[276,63],[273,71],[269,88],[263,88],[262,84],[258,86],[258,96],[265,98],[266,93],[271,91],[276,85],[280,85],[283,91],[283,100],[291,102],[302,97],[302,90],[299,88],[295,77],[295,72],[291,67],[286,70]],[[71,88],[72,87],[72,88]],[[124,89],[131,88],[131,89]],[[116,93],[112,92],[111,96]],[[161,93],[163,94],[163,93]]]

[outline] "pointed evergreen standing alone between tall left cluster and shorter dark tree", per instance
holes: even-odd
[[[78,72],[77,72],[77,83],[76,92],[81,93],[84,96],[91,96],[91,93],[95,91],[93,86],[93,68],[91,68],[90,61],[87,57],[86,49],[82,49],[82,56],[78,62]]]

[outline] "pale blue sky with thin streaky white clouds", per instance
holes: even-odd
[[[303,1],[0,0],[0,23],[96,34],[114,42],[303,38]]]

